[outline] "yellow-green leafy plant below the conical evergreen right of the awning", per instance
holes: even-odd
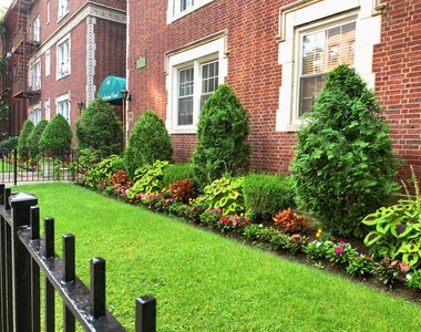
[[[153,165],[144,164],[138,167],[134,176],[134,185],[127,190],[127,197],[134,198],[137,194],[156,194],[162,188],[162,178],[164,176],[164,168],[168,162],[156,160]]]

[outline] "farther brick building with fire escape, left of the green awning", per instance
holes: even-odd
[[[125,76],[125,10],[122,0],[11,3],[1,49],[8,59],[0,90],[10,105],[7,136],[19,135],[27,118],[37,124],[57,113],[74,128],[78,103],[95,98],[106,76]]]

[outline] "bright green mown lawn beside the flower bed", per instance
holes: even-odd
[[[135,298],[158,331],[420,331],[421,307],[71,184],[23,185],[76,240],[76,274],[106,260],[107,309],[134,331]],[[61,255],[60,255],[61,256]]]

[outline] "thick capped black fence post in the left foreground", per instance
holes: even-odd
[[[9,197],[11,206],[13,318],[14,331],[31,331],[31,255],[18,238],[18,231],[30,226],[31,207],[35,196],[18,194]]]

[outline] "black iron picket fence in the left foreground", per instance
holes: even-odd
[[[41,331],[41,287],[44,331],[55,331],[55,292],[63,301],[64,331],[74,331],[75,321],[85,331],[125,331],[105,309],[105,260],[91,260],[88,289],[75,276],[74,236],[63,235],[60,258],[54,219],[44,218],[42,239],[37,204],[35,196],[11,194],[0,184],[0,331]],[[155,331],[156,300],[145,295],[135,303],[135,331]]]

